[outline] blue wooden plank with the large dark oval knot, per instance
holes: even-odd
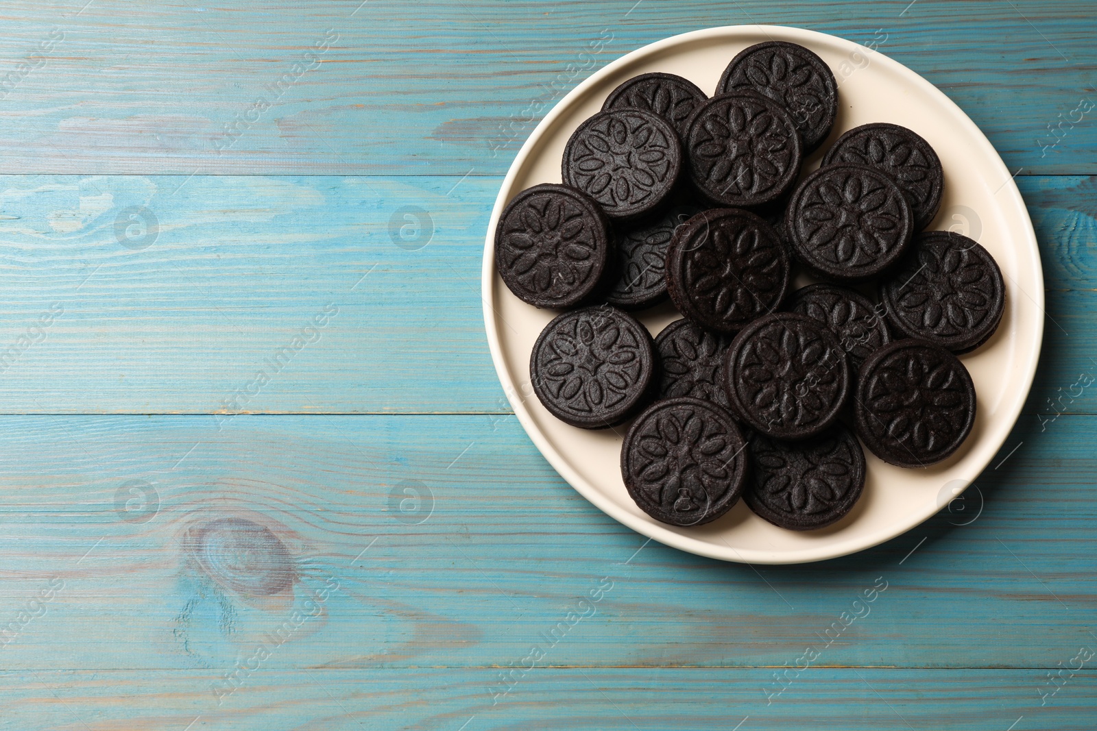
[[[3,666],[225,667],[290,621],[271,667],[507,665],[559,635],[553,665],[781,666],[825,642],[816,666],[1056,669],[1097,649],[1095,426],[1026,420],[965,512],[751,568],[645,545],[513,416],[8,416]]]

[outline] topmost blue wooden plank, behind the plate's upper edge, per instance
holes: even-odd
[[[608,61],[758,22],[875,41],[957,101],[1011,169],[1097,173],[1085,0],[962,14],[904,0],[81,4],[5,3],[8,170],[501,174],[545,110]]]

